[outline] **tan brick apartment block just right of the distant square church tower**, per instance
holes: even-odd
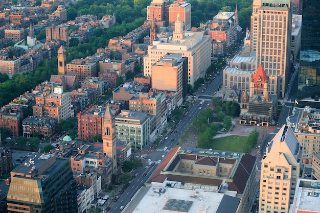
[[[66,72],[72,72],[79,83],[82,83],[87,77],[97,77],[97,63],[85,59],[74,59],[66,64]]]

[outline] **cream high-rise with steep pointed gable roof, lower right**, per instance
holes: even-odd
[[[289,126],[282,126],[261,161],[259,212],[289,212],[300,175],[301,145]]]

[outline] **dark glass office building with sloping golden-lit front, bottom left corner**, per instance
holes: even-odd
[[[70,161],[36,153],[10,172],[8,212],[77,212],[77,184]]]

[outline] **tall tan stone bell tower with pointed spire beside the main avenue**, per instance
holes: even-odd
[[[112,170],[117,171],[116,118],[112,114],[109,103],[102,119],[103,153],[112,160]]]

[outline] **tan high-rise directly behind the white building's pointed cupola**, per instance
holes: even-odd
[[[191,30],[191,4],[184,1],[175,0],[169,6],[169,27],[174,28],[177,16],[180,15],[181,21],[184,22],[184,30]]]

